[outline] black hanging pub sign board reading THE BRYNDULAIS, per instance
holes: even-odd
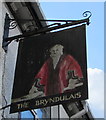
[[[87,98],[85,25],[20,41],[10,113]]]

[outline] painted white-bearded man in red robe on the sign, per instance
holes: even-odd
[[[60,94],[83,85],[82,82],[79,83],[79,79],[83,78],[80,65],[71,55],[63,54],[63,48],[60,44],[50,48],[50,58],[35,76],[38,82],[33,84],[29,93],[36,92],[37,85],[44,86],[45,96]]]

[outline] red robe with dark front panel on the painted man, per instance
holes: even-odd
[[[63,93],[68,86],[68,71],[74,70],[75,76],[82,78],[82,72],[77,61],[70,55],[62,55],[56,68],[53,67],[52,58],[49,58],[35,78],[41,78],[40,84],[45,85],[45,95]]]

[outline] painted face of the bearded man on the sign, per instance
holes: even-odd
[[[63,54],[63,46],[62,45],[55,45],[50,49],[51,57],[60,57],[62,54]]]

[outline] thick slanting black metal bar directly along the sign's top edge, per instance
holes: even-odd
[[[60,26],[55,26],[55,27],[51,27],[51,28],[42,28],[40,30],[33,31],[33,32],[30,32],[30,33],[9,37],[9,38],[6,38],[5,40],[6,41],[13,41],[15,39],[19,39],[19,38],[23,38],[23,37],[29,37],[29,36],[33,36],[33,35],[49,32],[49,31],[53,31],[53,30],[56,30],[56,29],[69,27],[69,26],[72,26],[72,25],[78,25],[78,24],[81,24],[81,23],[87,23],[87,25],[89,25],[89,18],[83,19],[83,20],[79,20],[79,21],[76,21],[76,22],[72,22],[72,23],[62,24]]]

